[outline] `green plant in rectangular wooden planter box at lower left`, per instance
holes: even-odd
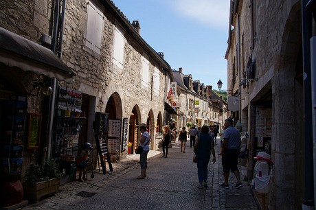
[[[45,161],[42,165],[31,164],[24,176],[24,197],[37,202],[42,196],[56,194],[62,175],[54,159]]]

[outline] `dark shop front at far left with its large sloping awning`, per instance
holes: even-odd
[[[10,191],[5,186],[12,183],[21,185],[30,163],[49,158],[47,125],[52,124],[48,116],[56,94],[54,84],[71,82],[74,75],[51,50],[0,27],[2,192]],[[8,205],[1,198],[1,205]]]

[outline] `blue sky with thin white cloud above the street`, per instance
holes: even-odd
[[[227,89],[229,0],[113,0],[128,21],[139,21],[141,36],[172,69],[193,80]]]

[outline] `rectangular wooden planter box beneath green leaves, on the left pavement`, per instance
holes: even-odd
[[[60,185],[60,178],[52,178],[39,183],[35,183],[34,186],[23,184],[24,198],[38,202],[43,196],[49,194],[57,194]]]

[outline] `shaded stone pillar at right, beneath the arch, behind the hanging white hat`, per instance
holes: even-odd
[[[272,78],[272,209],[295,209],[295,71],[278,69]]]

